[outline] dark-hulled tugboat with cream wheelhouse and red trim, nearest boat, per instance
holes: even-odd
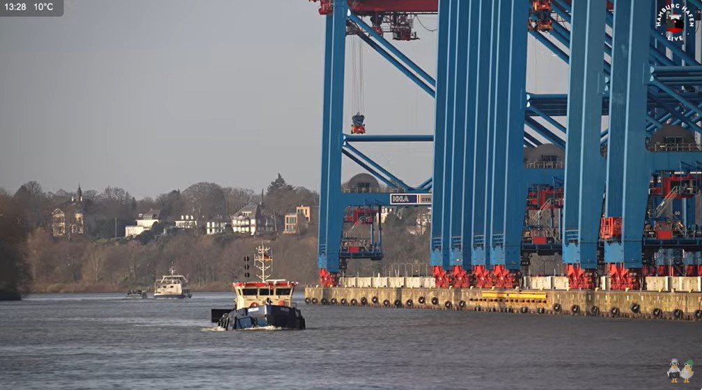
[[[305,319],[293,305],[293,291],[296,282],[284,279],[268,279],[273,258],[270,248],[263,245],[256,248],[253,256],[255,266],[260,270],[260,281],[234,282],[237,293],[233,309],[212,309],[211,321],[225,330],[250,328],[305,329]],[[248,269],[248,259],[244,260]],[[248,277],[248,271],[246,272]]]

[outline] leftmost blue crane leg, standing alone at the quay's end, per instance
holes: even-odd
[[[317,266],[332,274],[339,271],[344,208],[341,204],[341,145],[347,11],[346,0],[334,0],[333,14],[326,17]]]

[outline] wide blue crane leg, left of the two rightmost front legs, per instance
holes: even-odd
[[[604,192],[600,127],[606,5],[605,0],[574,0],[571,18],[563,260],[590,270],[597,267]]]

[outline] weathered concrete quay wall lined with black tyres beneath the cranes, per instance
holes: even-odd
[[[388,284],[390,286],[307,286],[305,303],[397,309],[702,320],[702,293],[698,292],[392,287],[397,284],[395,281]]]

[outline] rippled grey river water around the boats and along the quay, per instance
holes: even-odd
[[[0,302],[1,389],[700,389],[702,323],[300,304],[307,330],[213,331],[190,300]],[[301,301],[301,296],[298,297]],[[670,384],[670,358],[700,368]]]

